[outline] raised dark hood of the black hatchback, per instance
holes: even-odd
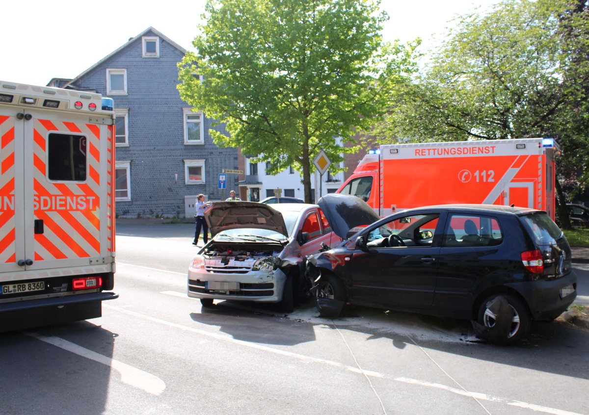
[[[328,193],[317,202],[333,232],[346,239],[348,231],[356,226],[370,225],[380,219],[379,215],[357,196]]]

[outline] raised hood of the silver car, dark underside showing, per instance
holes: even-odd
[[[258,202],[214,202],[204,211],[211,236],[239,228],[266,229],[288,236],[282,213]]]

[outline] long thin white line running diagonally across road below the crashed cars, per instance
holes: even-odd
[[[176,295],[176,293],[174,293],[174,291],[166,291],[165,293],[170,293],[171,295]],[[180,293],[177,293],[177,294],[180,294]],[[312,357],[312,356],[306,356],[304,354],[292,353],[292,352],[286,351],[286,350],[280,350],[277,348],[263,346],[262,344],[249,343],[247,341],[237,340],[236,338],[231,337],[229,334],[213,333],[211,331],[200,330],[199,328],[184,326],[183,324],[172,323],[171,321],[161,320],[161,318],[151,317],[151,316],[147,316],[145,314],[137,313],[135,311],[125,310],[124,308],[111,306],[110,304],[102,304],[102,307],[110,308],[111,310],[119,311],[120,313],[125,313],[130,316],[137,317],[137,318],[143,318],[144,320],[153,321],[154,323],[164,324],[165,326],[168,326],[168,327],[179,328],[180,330],[190,331],[191,333],[197,333],[197,334],[201,334],[203,336],[216,338],[217,340],[227,341],[228,343],[234,343],[234,344],[239,344],[240,346],[250,347],[250,348],[257,349],[257,350],[263,350],[263,351],[267,351],[269,353],[279,354],[280,356],[293,357],[293,358],[297,358],[299,360],[305,360],[305,361],[311,361],[311,362],[320,363],[320,364],[326,364],[329,366],[338,367],[340,369],[350,371],[352,373],[363,374],[364,376],[378,377],[380,379],[391,379],[391,380],[395,380],[395,381],[403,382],[403,383],[411,383],[411,384],[416,384],[419,386],[431,387],[431,388],[435,388],[435,389],[442,389],[442,390],[445,390],[445,391],[448,391],[451,393],[459,394],[461,396],[472,397],[474,399],[479,399],[479,400],[487,400],[487,401],[505,403],[507,405],[517,406],[517,407],[521,407],[524,409],[530,409],[530,410],[534,410],[534,411],[538,411],[538,412],[544,412],[547,414],[583,415],[583,414],[576,413],[576,412],[554,409],[554,408],[535,405],[535,404],[522,402],[522,401],[505,399],[505,398],[501,398],[501,397],[497,397],[497,396],[492,396],[489,394],[456,389],[456,388],[453,388],[450,386],[445,386],[445,385],[438,384],[438,383],[426,382],[426,381],[422,381],[422,380],[418,380],[418,379],[410,379],[410,378],[406,378],[406,377],[392,377],[392,376],[385,374],[385,373],[380,373],[380,372],[370,371],[370,370],[362,370],[361,368],[348,366],[346,364],[339,363],[337,361],[326,360],[323,358]],[[195,324],[200,325],[201,323],[195,323]],[[206,324],[203,324],[203,326],[206,326]]]

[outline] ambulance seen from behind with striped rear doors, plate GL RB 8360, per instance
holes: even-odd
[[[118,297],[112,107],[0,81],[0,331],[100,317]]]

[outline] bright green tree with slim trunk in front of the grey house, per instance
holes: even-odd
[[[370,0],[208,0],[180,96],[226,124],[211,130],[217,145],[270,161],[271,174],[301,171],[309,202],[313,158],[357,151],[335,138],[353,142],[414,68],[416,44],[382,42],[386,19]]]

